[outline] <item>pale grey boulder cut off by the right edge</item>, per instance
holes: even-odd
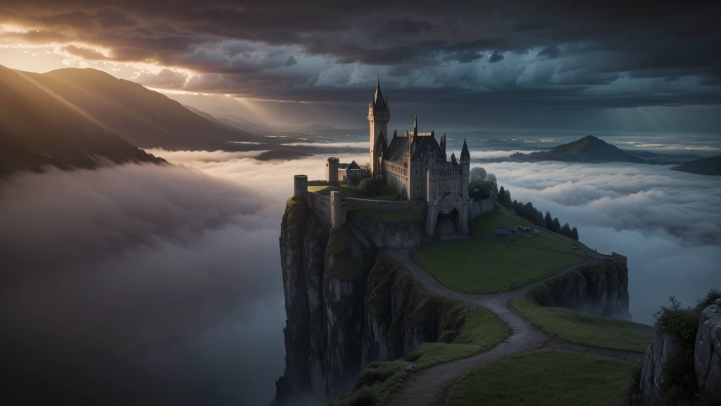
[[[704,308],[694,344],[699,392],[721,386],[721,299]]]

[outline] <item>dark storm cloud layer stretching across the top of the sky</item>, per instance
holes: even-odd
[[[372,85],[385,66],[398,101],[438,100],[425,90],[443,89],[456,103],[717,104],[720,11],[709,1],[10,0],[0,7],[0,24],[11,27],[0,41],[151,62],[195,79],[145,72],[139,81],[270,100]]]

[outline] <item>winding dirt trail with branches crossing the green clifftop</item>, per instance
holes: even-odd
[[[450,241],[457,241],[457,239],[444,242]],[[600,355],[624,360],[643,359],[644,353],[587,347],[585,345],[566,342],[559,337],[552,337],[538,327],[528,323],[521,315],[510,308],[511,299],[525,297],[526,292],[535,285],[564,275],[573,269],[600,262],[600,259],[591,258],[586,262],[571,265],[554,275],[545,277],[522,288],[510,290],[509,292],[474,295],[471,293],[462,293],[442,285],[433,275],[430,275],[428,271],[412,259],[412,252],[414,250],[415,248],[386,250],[386,253],[407,267],[413,277],[433,293],[451,298],[455,301],[472,303],[491,311],[508,325],[508,328],[511,330],[511,335],[505,342],[501,342],[486,353],[443,363],[412,374],[409,379],[404,381],[403,386],[392,395],[389,402],[390,405],[433,405],[438,399],[441,399],[443,393],[450,389],[451,385],[459,376],[470,369],[481,366],[491,360],[505,358],[518,353],[525,353],[540,347],[569,350],[577,353]]]

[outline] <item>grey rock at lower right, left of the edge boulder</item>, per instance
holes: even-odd
[[[663,367],[668,360],[684,353],[685,346],[678,337],[665,332],[660,324],[653,328],[653,342],[648,346],[641,370],[641,392],[647,399],[658,399],[663,390]]]

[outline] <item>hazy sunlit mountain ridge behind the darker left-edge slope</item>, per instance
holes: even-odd
[[[229,141],[257,138],[193,113],[159,92],[95,69],[58,69],[35,75],[35,80],[138,147],[222,150]]]

